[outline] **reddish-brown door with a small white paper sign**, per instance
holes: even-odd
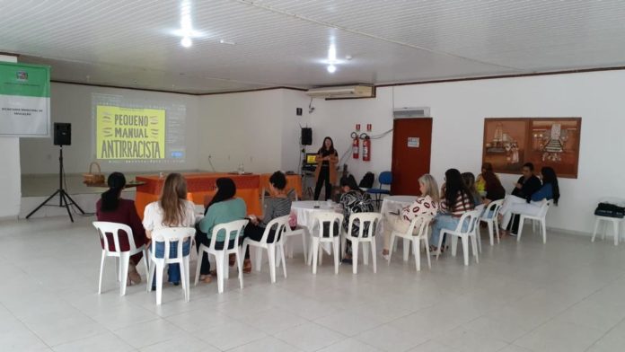
[[[432,118],[393,121],[392,194],[421,194],[418,178],[429,173],[431,147]]]

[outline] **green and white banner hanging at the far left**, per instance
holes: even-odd
[[[0,136],[50,135],[49,66],[0,62]]]

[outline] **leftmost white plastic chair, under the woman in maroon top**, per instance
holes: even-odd
[[[119,295],[126,295],[126,284],[128,283],[128,261],[130,260],[130,256],[135,255],[138,252],[143,252],[145,272],[148,271],[145,245],[142,244],[139,247],[136,247],[135,238],[132,236],[132,229],[127,224],[109,223],[105,221],[94,221],[92,224],[100,235],[102,243],[104,243],[100,260],[98,295],[102,292],[102,273],[104,272],[104,259],[106,259],[106,257],[116,258],[115,264],[117,269],[117,281],[119,282]],[[128,251],[120,251],[119,231],[123,231],[128,235]],[[106,233],[112,234],[113,251],[109,251],[109,239],[106,236]]]

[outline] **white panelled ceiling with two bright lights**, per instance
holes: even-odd
[[[182,1],[0,0],[0,52],[54,80],[192,93],[625,66],[621,0],[190,0],[191,48]]]

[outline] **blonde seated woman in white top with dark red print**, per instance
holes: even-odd
[[[418,222],[415,230],[424,221],[430,222],[438,212],[438,185],[432,175],[425,174],[418,178],[418,189],[421,196],[418,197],[409,207],[404,207],[399,216],[383,214],[386,224],[384,225],[384,249],[382,256],[388,260],[389,245],[391,242],[391,234],[393,231],[405,233],[408,230],[410,222],[417,218]]]

